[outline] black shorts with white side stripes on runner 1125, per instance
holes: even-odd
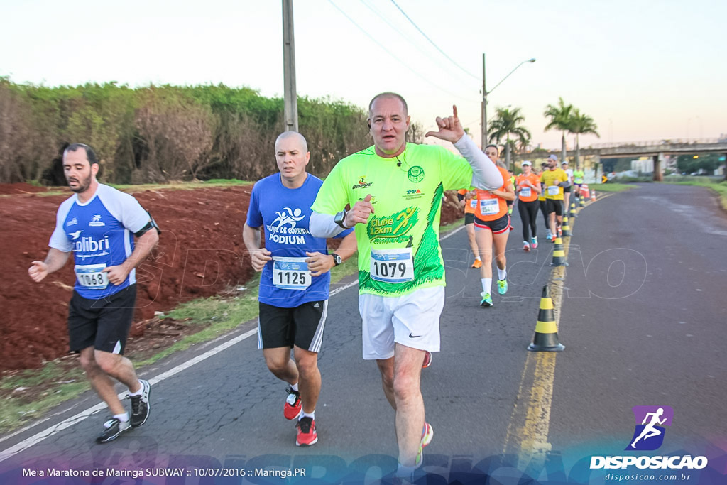
[[[292,347],[320,352],[328,300],[280,308],[260,302],[257,348]]]

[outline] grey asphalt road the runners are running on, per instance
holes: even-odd
[[[674,409],[660,452],[687,450],[718,462],[727,449],[721,413],[727,398],[727,217],[713,196],[701,188],[643,184],[588,204],[572,221],[564,273],[550,268],[552,244],[523,252],[516,211],[513,225],[510,289],[494,295],[492,308],[478,305],[479,272],[470,268],[465,231],[442,241],[442,348],[422,372],[427,421],[435,431],[425,470],[439,480],[430,483],[475,479],[467,475],[475,464],[512,478],[531,463],[529,473],[538,476],[542,465],[533,456],[557,462],[542,478],[561,479],[591,454],[623,454],[637,405]],[[544,239],[541,216],[539,235]],[[526,351],[545,285],[557,295],[562,353]],[[295,446],[294,423],[282,416],[286,386],[265,368],[249,322],[143,369],[145,378],[164,377],[153,385],[151,417],[110,444],[94,442],[105,410],[68,422],[97,404],[90,394],[32,428],[0,437],[0,459],[6,458],[0,483],[20,483],[23,468],[52,466],[126,473],[185,468],[182,477],[147,474],[144,483],[281,483],[250,476],[211,480],[189,471],[272,466],[308,470],[292,482],[375,481],[395,467],[393,411],[376,365],[361,359],[357,300],[353,285],[329,304],[316,446]],[[165,377],[235,337],[228,348]],[[41,439],[42,433],[49,436]],[[98,483],[115,483],[103,480]]]

